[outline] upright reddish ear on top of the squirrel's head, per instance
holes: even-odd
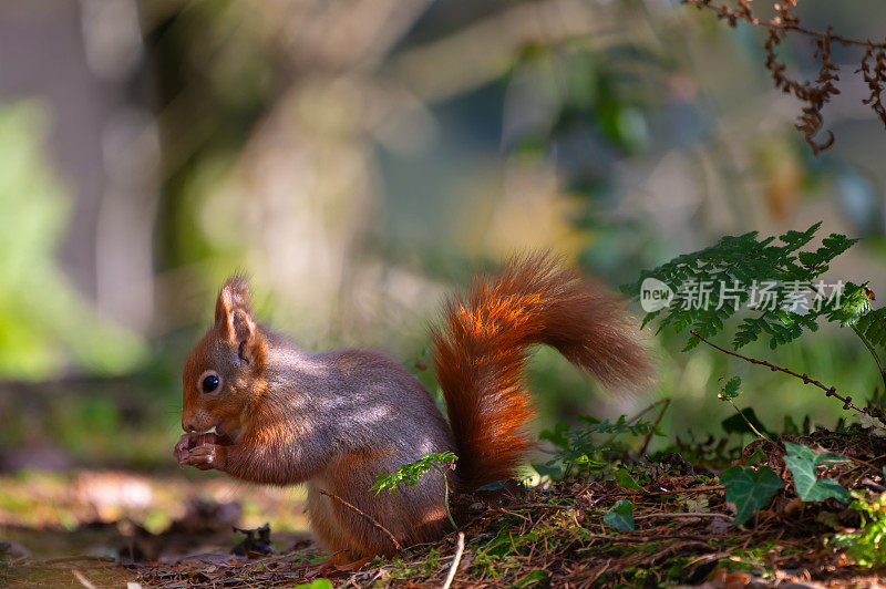
[[[249,283],[243,276],[231,276],[218,291],[215,323],[223,340],[238,345],[240,359],[254,365],[264,363],[265,342],[253,314]]]

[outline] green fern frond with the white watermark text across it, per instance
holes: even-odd
[[[863,296],[864,285],[846,283],[842,299],[825,298],[817,285],[834,258],[858,240],[831,234],[820,247],[807,249],[821,225],[816,223],[804,231],[792,230],[777,238],[761,238],[758,231],[724,236],[713,246],[642,271],[622,291],[640,298],[643,281],[649,278],[671,288],[670,306],[643,317],[643,327],[657,319],[659,331],[667,328],[679,333],[691,328],[701,337],[711,338],[723,331],[739,311],[746,310],[750,317],[739,323],[732,339],[735,349],[760,338],[766,338],[770,348],[790,343],[805,331],[816,331],[822,317],[844,326],[854,324],[869,316],[865,314],[869,303]],[[759,286],[765,288],[754,288]],[[753,300],[751,292],[760,294],[760,300]],[[764,293],[770,299],[763,299]],[[864,326],[872,334],[882,334],[878,341],[886,343],[883,321],[870,318]],[[697,338],[690,338],[686,349],[698,342]]]

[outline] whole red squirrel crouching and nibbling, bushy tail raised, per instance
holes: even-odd
[[[392,358],[369,350],[308,353],[260,324],[240,276],[218,293],[215,324],[185,362],[179,464],[261,484],[307,483],[308,516],[342,561],[393,555],[451,529],[443,475],[375,494],[379,473],[425,454],[457,455],[456,493],[514,476],[533,446],[523,372],[545,343],[607,385],[639,385],[650,364],[622,300],[547,255],[513,260],[449,299],[432,330],[449,421]],[[215,433],[209,431],[215,428]]]

